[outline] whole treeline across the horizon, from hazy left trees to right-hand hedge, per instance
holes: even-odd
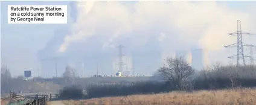
[[[33,81],[53,81],[62,86],[80,84],[80,88],[65,88],[60,94],[76,92],[86,93],[83,97],[96,98],[107,96],[122,96],[132,94],[152,94],[170,91],[195,91],[201,89],[234,89],[237,87],[253,88],[256,86],[256,66],[246,65],[214,65],[198,71],[192,68],[185,59],[167,58],[163,66],[156,70],[153,77],[139,81],[134,78],[78,78],[75,70],[67,66],[63,77],[35,78]],[[7,68],[1,68],[1,93],[8,93],[11,89],[26,89],[33,84],[22,77],[11,78]],[[107,84],[112,83],[112,84]],[[75,92],[70,92],[75,90]],[[77,94],[78,95],[78,94]],[[65,95],[69,96],[69,95]],[[67,97],[66,97],[67,98]]]

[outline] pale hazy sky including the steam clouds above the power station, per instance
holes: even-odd
[[[145,49],[162,50],[165,55],[203,48],[209,62],[226,63],[226,56],[235,52],[223,46],[234,43],[235,36],[227,33],[236,31],[237,19],[242,20],[243,31],[256,33],[256,1],[80,1],[77,22],[68,17],[67,25],[7,24],[7,5],[14,4],[69,2],[1,1],[1,65],[7,65],[13,75],[36,71],[39,51],[46,56],[91,54],[119,43],[129,46],[129,51],[150,43]],[[56,30],[69,32],[54,34]],[[255,37],[248,37],[246,43],[256,44]]]

